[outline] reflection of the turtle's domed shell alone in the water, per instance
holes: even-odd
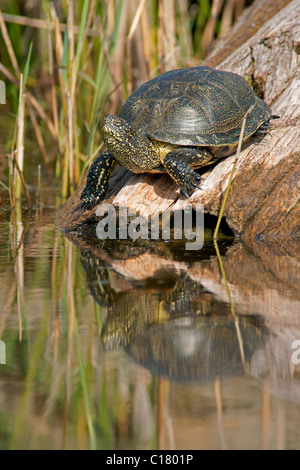
[[[258,317],[186,315],[144,328],[125,351],[154,374],[172,380],[213,380],[249,371],[268,333]]]

